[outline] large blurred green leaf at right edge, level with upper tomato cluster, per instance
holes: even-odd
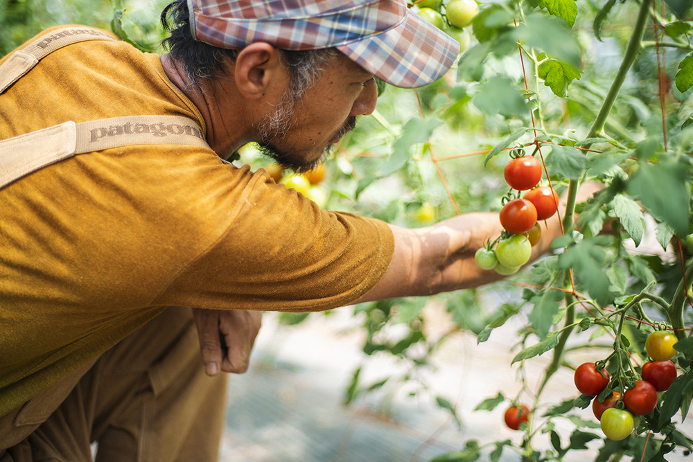
[[[639,198],[647,211],[667,222],[676,233],[688,234],[690,179],[676,161],[641,163],[631,177],[628,192]]]

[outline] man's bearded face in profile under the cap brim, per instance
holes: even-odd
[[[373,75],[340,54],[300,98],[287,90],[272,114],[258,124],[258,144],[283,166],[309,170],[356,126],[356,116],[371,114],[378,98]]]

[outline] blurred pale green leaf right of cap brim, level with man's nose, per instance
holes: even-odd
[[[502,75],[489,78],[472,98],[472,103],[490,115],[500,114],[508,118],[529,115],[525,98],[513,81]]]

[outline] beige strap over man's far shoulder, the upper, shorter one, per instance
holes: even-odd
[[[33,42],[15,51],[0,66],[0,94],[17,82],[19,78],[33,68],[43,57],[69,44],[87,40],[116,40],[105,30],[91,27],[69,26],[55,29],[42,35]]]

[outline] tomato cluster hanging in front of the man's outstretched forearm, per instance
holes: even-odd
[[[527,263],[532,247],[541,238],[540,220],[556,213],[559,197],[550,186],[538,186],[542,168],[534,156],[525,156],[521,149],[513,150],[511,160],[503,171],[505,181],[518,197],[509,193],[504,199],[498,218],[505,231],[494,242],[475,254],[477,265],[482,269],[495,269],[498,274],[513,274]],[[524,197],[519,191],[527,190]],[[495,249],[494,249],[495,246]]]

